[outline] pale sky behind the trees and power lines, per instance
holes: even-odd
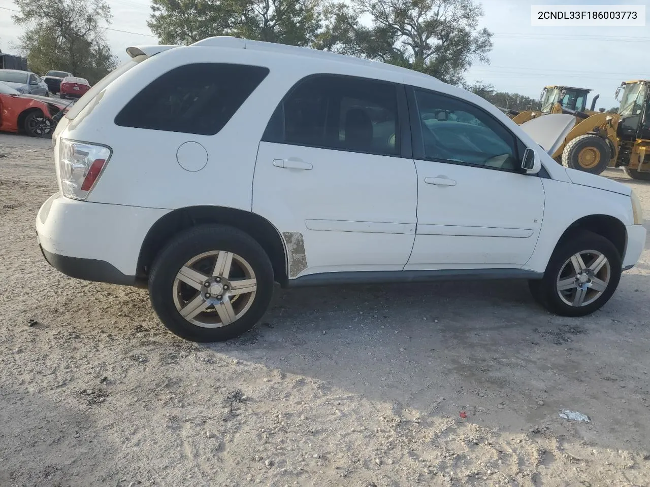
[[[106,36],[114,54],[125,60],[130,45],[157,44],[147,27],[147,0],[107,0],[113,20]],[[543,86],[591,88],[600,94],[596,108],[617,106],[621,81],[650,79],[650,22],[645,27],[531,27],[531,5],[644,5],[644,0],[482,0],[480,27],[493,32],[489,64],[474,64],[469,82],[537,99]],[[21,29],[12,23],[12,0],[0,0],[0,49],[12,53]],[[646,16],[650,5],[646,8]],[[127,31],[127,32],[118,32]],[[142,35],[148,34],[148,35]]]

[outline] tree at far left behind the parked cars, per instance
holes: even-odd
[[[104,0],[16,0],[20,9],[14,22],[26,30],[19,36],[32,71],[70,71],[91,84],[116,66],[100,21],[110,24]]]

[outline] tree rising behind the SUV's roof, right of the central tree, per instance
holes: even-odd
[[[491,32],[478,29],[473,0],[351,0],[324,8],[318,49],[382,60],[459,84],[473,62],[488,62]],[[369,18],[364,25],[361,18]]]

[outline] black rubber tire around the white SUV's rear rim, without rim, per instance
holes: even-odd
[[[255,274],[257,289],[250,298],[252,304],[242,316],[228,325],[206,328],[181,316],[174,303],[174,282],[179,270],[192,258],[214,251],[231,252],[245,260]],[[261,245],[250,235],[225,225],[200,225],[179,234],[156,256],[149,273],[149,297],[156,314],[170,331],[192,342],[220,342],[248,331],[266,312],[273,288],[273,268]],[[192,288],[187,289],[196,293]],[[209,307],[196,316],[200,319],[216,318],[215,309]],[[213,314],[209,315],[211,312]],[[205,316],[208,318],[202,318]]]

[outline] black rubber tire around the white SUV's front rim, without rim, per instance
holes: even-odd
[[[565,262],[571,256],[584,251],[596,251],[606,257],[609,264],[609,277],[604,291],[591,303],[584,306],[572,306],[565,303],[560,297],[560,292],[557,290],[558,277],[560,271],[565,266]],[[585,264],[589,266],[587,262]],[[552,313],[560,316],[585,316],[593,313],[609,301],[610,297],[616,291],[620,279],[621,255],[619,255],[614,244],[603,236],[593,232],[576,231],[565,236],[558,243],[549,260],[543,279],[539,281],[528,281],[528,285],[534,299]],[[590,292],[593,292],[593,290],[588,291],[588,293]]]

